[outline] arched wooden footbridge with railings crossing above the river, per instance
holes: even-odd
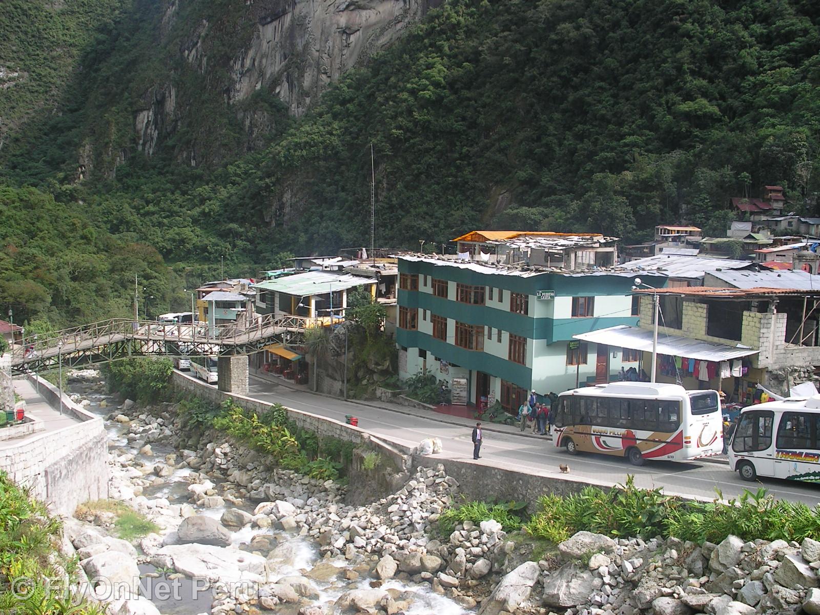
[[[225,356],[253,354],[270,344],[299,344],[305,330],[322,319],[293,315],[259,316],[246,325],[168,325],[127,318],[26,338],[11,349],[11,371],[24,373],[78,367],[134,356]]]

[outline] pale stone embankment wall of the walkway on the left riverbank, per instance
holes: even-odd
[[[37,376],[30,376],[32,382]],[[59,392],[39,380],[43,398],[57,406]],[[63,412],[75,425],[33,435],[19,444],[0,448],[0,469],[18,485],[50,505],[53,512],[71,515],[77,504],[108,497],[108,443],[103,419],[94,417],[63,397]]]

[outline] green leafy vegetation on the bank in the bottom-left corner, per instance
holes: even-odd
[[[0,613],[103,615],[102,606],[64,591],[77,580],[79,564],[60,554],[60,535],[46,506],[0,471]]]

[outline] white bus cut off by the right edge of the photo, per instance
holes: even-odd
[[[820,482],[820,395],[743,408],[729,447],[740,478]]]

